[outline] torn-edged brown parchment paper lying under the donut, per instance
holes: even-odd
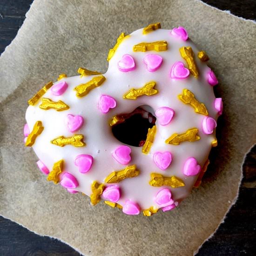
[[[152,217],[126,216],[46,182],[23,145],[27,100],[58,74],[78,67],[105,72],[121,32],[161,22],[184,26],[205,50],[224,101],[219,146],[202,186],[181,206]],[[84,255],[193,255],[236,200],[245,153],[256,142],[256,25],[192,0],[35,0],[0,57],[0,214]]]

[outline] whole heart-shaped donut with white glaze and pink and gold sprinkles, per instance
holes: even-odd
[[[38,168],[92,205],[144,216],[175,209],[217,146],[222,98],[208,60],[184,27],[122,33],[105,74],[60,74],[28,101],[24,141]]]

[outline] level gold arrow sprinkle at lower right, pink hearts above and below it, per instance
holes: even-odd
[[[149,184],[153,187],[171,186],[172,188],[178,188],[185,186],[182,179],[176,176],[166,177],[159,173],[151,173],[150,176]]]

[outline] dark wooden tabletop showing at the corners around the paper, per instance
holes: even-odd
[[[256,19],[256,0],[204,0],[245,19]],[[32,0],[0,0],[0,53],[10,44]],[[239,198],[197,256],[256,256],[256,146],[243,166]],[[191,234],[193,235],[193,234]],[[57,239],[38,236],[0,217],[0,256],[79,256]]]

